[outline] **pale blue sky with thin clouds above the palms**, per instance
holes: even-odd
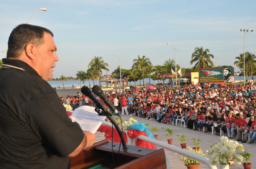
[[[9,0],[1,2],[0,55],[5,55],[15,26],[27,23],[46,27],[54,34],[59,61],[54,78],[86,71],[94,56],[109,64],[108,74],[120,65],[131,69],[133,59],[150,58],[153,66],[169,58],[189,68],[195,47],[203,46],[218,65],[235,67],[236,56],[256,54],[256,1],[170,0]],[[171,44],[167,44],[171,42]],[[4,51],[4,52],[2,52]],[[118,55],[114,56],[114,55]],[[3,57],[4,58],[4,57]],[[86,62],[86,63],[84,63]],[[239,71],[235,67],[235,71]],[[103,75],[106,71],[103,71]]]

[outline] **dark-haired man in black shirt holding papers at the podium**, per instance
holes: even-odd
[[[53,33],[18,25],[0,69],[0,168],[69,168],[95,135],[73,123],[47,83],[59,60]]]

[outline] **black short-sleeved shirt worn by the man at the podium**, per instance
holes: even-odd
[[[56,91],[15,59],[3,59],[0,89],[0,168],[68,168],[84,134]]]

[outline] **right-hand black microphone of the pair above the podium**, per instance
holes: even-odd
[[[82,90],[81,90],[82,91]],[[118,113],[118,111],[116,110],[115,106],[113,105],[113,103],[106,97],[106,95],[103,93],[101,87],[95,85],[93,86],[93,92],[99,97],[101,98],[101,100],[103,100],[103,102],[108,106],[108,108],[110,108],[110,110],[112,110],[116,115],[118,115],[119,117],[121,117],[121,115]],[[112,114],[111,114],[112,115]]]

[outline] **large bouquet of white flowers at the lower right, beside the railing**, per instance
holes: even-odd
[[[228,165],[228,162],[234,164],[233,161],[230,161],[232,157],[234,157],[237,164],[240,165],[241,162],[243,162],[243,157],[241,155],[236,155],[235,151],[244,151],[244,146],[225,136],[221,136],[220,139],[221,142],[212,146],[208,152],[208,155],[211,155],[209,158],[211,165]]]

